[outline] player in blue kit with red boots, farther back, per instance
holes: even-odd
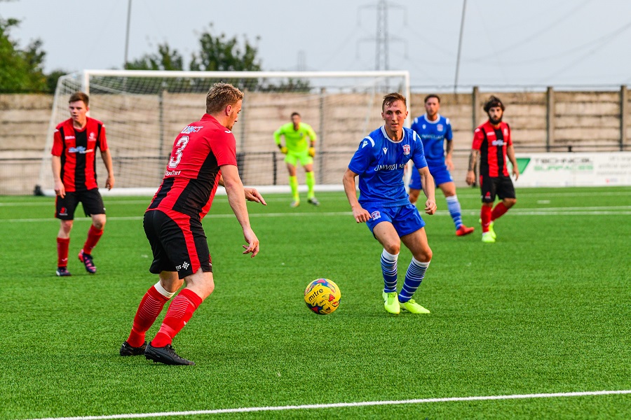
[[[452,125],[449,118],[445,118],[438,113],[440,109],[440,98],[436,94],[428,94],[425,97],[426,114],[414,118],[412,130],[419,134],[425,150],[425,158],[430,174],[434,177],[436,186],[442,190],[447,200],[447,209],[454,219],[456,225],[456,236],[469,235],[474,228],[467,228],[462,223],[462,211],[458,196],[456,195],[456,184],[449,170],[454,169],[452,162],[452,151],[454,143],[452,141]],[[447,151],[445,152],[445,140],[447,140]],[[409,201],[414,204],[419,197],[421,190],[421,177],[416,171],[412,171],[412,179],[409,182]]]

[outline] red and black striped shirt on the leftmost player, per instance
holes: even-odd
[[[107,151],[105,126],[88,117],[86,127],[78,130],[72,118],[57,125],[53,135],[53,156],[61,158],[61,179],[68,193],[98,188],[96,149]]]

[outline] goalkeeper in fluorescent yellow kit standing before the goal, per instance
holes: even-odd
[[[285,146],[280,141],[280,137],[285,137]],[[309,142],[307,144],[307,137]],[[313,174],[313,156],[315,156],[315,132],[311,125],[300,122],[300,114],[292,113],[292,122],[281,125],[274,132],[274,141],[280,151],[285,154],[285,163],[290,176],[290,187],[292,188],[293,201],[291,206],[297,207],[300,204],[298,195],[298,179],[296,178],[296,163],[304,168],[306,184],[308,187],[307,202],[314,206],[319,206],[320,202],[315,199],[313,186],[315,186],[315,175]]]

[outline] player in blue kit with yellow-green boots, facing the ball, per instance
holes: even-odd
[[[384,246],[381,271],[384,274],[384,307],[391,314],[403,308],[412,314],[429,311],[412,299],[421,285],[432,259],[427,242],[425,222],[414,204],[409,202],[403,183],[403,169],[412,160],[423,180],[427,196],[426,214],[434,214],[434,181],[427,169],[423,144],[419,136],[403,127],[407,118],[405,97],[387,94],[381,105],[381,118],[386,122],[368,134],[344,172],[344,191],[357,223],[366,222],[375,239]],[[359,176],[360,198],[355,192],[355,176]],[[401,241],[412,251],[401,293],[397,294],[397,260]]]

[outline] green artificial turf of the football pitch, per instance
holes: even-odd
[[[204,226],[216,289],[175,338],[197,365],[122,358],[142,295],[157,281],[142,229],[147,197],[107,197],[93,255],[55,276],[53,199],[0,197],[0,417],[189,412],[237,407],[631,390],[631,188],[517,190],[482,244],[477,190],[459,190],[456,237],[445,200],[424,216],[433,250],[414,296],[429,315],[392,316],[381,300],[381,247],[344,193],[290,209],[288,195],[248,204],[256,258],[226,197]],[[77,215],[83,216],[81,209]],[[403,248],[399,277],[411,255]],[[325,277],[339,309],[311,313],[302,294]],[[149,330],[151,338],[163,316]],[[631,395],[422,402],[198,414],[222,419],[628,419]],[[191,419],[191,416],[170,416]]]

